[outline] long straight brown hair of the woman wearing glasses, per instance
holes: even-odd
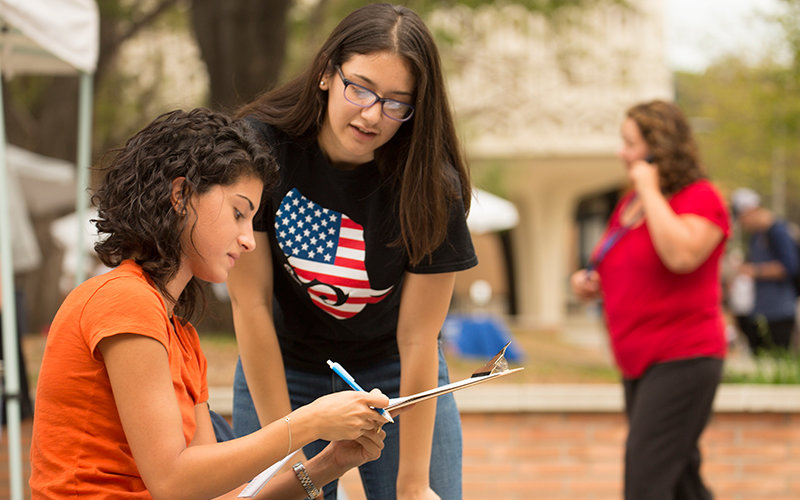
[[[395,244],[417,264],[444,241],[450,203],[460,196],[468,211],[472,191],[439,52],[414,11],[386,3],[355,10],[331,32],[304,73],[245,105],[237,116],[252,115],[295,138],[316,138],[327,111],[322,77],[353,55],[382,51],[403,57],[416,81],[414,116],[375,152],[375,160],[399,193]]]

